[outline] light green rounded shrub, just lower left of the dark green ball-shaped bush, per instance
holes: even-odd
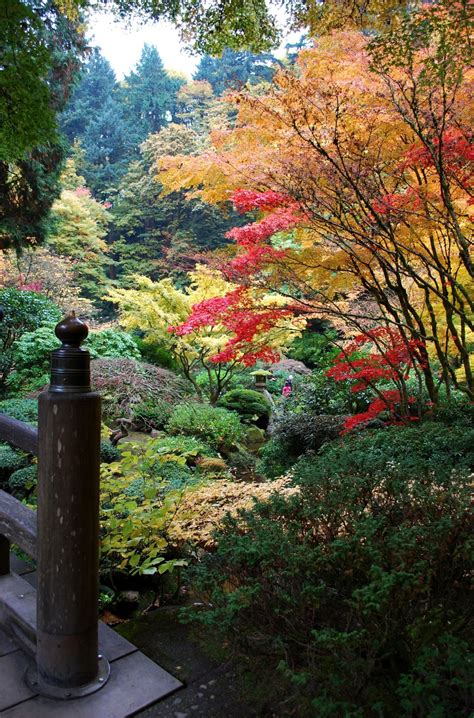
[[[170,434],[195,436],[218,451],[228,452],[244,436],[238,416],[209,404],[179,404],[167,424]]]

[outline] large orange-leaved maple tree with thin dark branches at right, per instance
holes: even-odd
[[[269,92],[232,96],[236,124],[211,150],[160,174],[252,212],[229,233],[234,282],[417,342],[433,402],[441,384],[474,396],[471,7],[423,5],[372,41],[321,38]],[[191,321],[211,321],[203,309]]]

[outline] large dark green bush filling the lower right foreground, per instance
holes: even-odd
[[[434,423],[346,437],[294,467],[298,494],[227,519],[193,616],[279,671],[274,713],[469,715],[473,447]]]

